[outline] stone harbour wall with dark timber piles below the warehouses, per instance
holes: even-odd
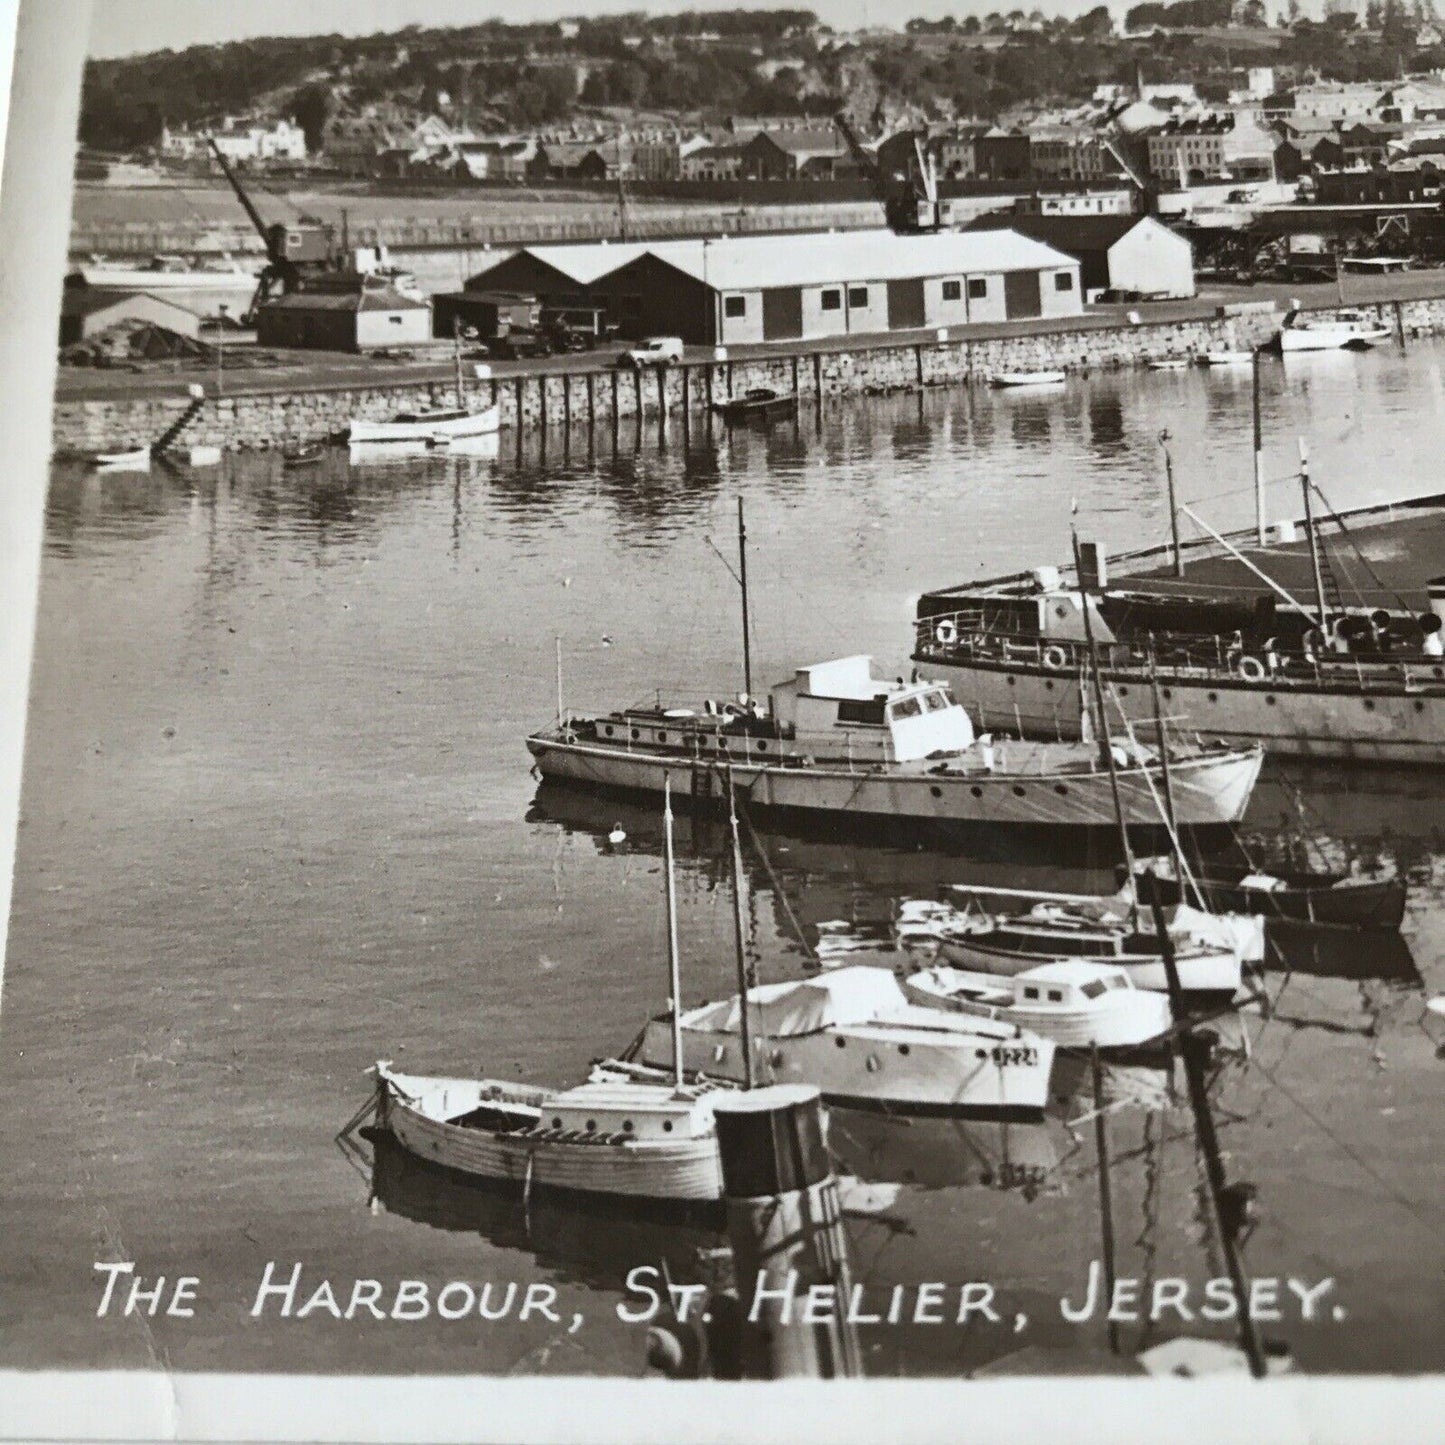
[[[1406,338],[1445,331],[1445,299],[1354,306],[1403,329]],[[694,361],[666,370],[605,370],[509,374],[468,384],[468,403],[496,402],[501,426],[613,426],[624,418],[694,415],[751,387],[796,390],[802,400],[879,394],[931,386],[987,381],[997,371],[1065,370],[1077,374],[1201,357],[1215,348],[1248,348],[1273,337],[1272,309],[1178,322],[1074,325],[1029,335],[871,342],[763,357]],[[55,407],[55,452],[91,455],[143,447],[159,438],[191,405],[176,396],[61,400]],[[321,441],[351,418],[381,420],[397,412],[452,406],[451,379],[438,381],[316,386],[211,397],[178,438],[178,448],[260,449]]]

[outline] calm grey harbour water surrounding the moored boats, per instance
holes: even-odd
[[[1274,507],[1298,510],[1300,435],[1337,507],[1438,488],[1445,350],[1303,363],[1264,371]],[[539,796],[527,770],[555,639],[574,705],[738,686],[737,594],[709,542],[731,555],[741,496],[759,679],[841,652],[906,666],[913,597],[1058,561],[1071,501],[1085,538],[1162,539],[1165,431],[1182,497],[1247,522],[1248,384],[1101,376],[835,405],[770,434],[675,419],[312,473],[58,468],[0,1017],[0,1363],[643,1373],[624,1276],[666,1259],[689,1277],[705,1235],[523,1215],[332,1139],[377,1056],[572,1082],[665,1000],[659,821]],[[1302,811],[1332,855],[1413,883],[1403,942],[1335,941],[1272,974],[1277,1014],[1231,1032],[1248,1052],[1214,1079],[1228,1169],[1263,1208],[1251,1273],[1334,1280],[1321,1318],[1286,1287],[1263,1327],[1309,1370],[1445,1366],[1445,1020],[1423,1007],[1445,987],[1442,786],[1276,773],[1251,816],[1269,832]],[[968,877],[1104,879],[818,837],[769,853],[747,899],[764,978],[805,968],[793,919],[811,938]],[[730,988],[722,860],[715,829],[681,825],[689,1000]],[[1221,1269],[1188,1108],[1160,1075],[1108,1088],[1118,1270],[1183,1277],[1198,1305]],[[1101,1244],[1091,1087],[1075,1068],[1056,1090],[1027,1126],[837,1117],[855,1277],[877,1298],[991,1280],[1009,1319],[870,1329],[870,1370],[1104,1348],[1098,1321],[1059,1316]],[[95,1260],[198,1276],[194,1318],[97,1318]],[[564,1324],[253,1318],[267,1261],[301,1261],[303,1293],[542,1280]]]

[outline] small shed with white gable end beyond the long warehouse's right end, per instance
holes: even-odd
[[[1012,228],[1079,263],[1084,296],[1103,290],[1192,296],[1194,247],[1149,215],[983,215],[971,230]]]

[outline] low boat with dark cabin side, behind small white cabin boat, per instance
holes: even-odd
[[[1084,959],[1123,970],[1136,988],[1169,987],[1157,938],[1127,923],[1094,922],[1062,912],[1016,916],[964,912],[946,903],[932,905],[935,913],[925,922],[926,906],[913,905],[909,931],[900,931],[900,942],[928,938],[958,968],[1012,977],[1045,962]],[[1237,949],[1179,936],[1173,945],[1179,987],[1186,993],[1238,991],[1243,961]]]

